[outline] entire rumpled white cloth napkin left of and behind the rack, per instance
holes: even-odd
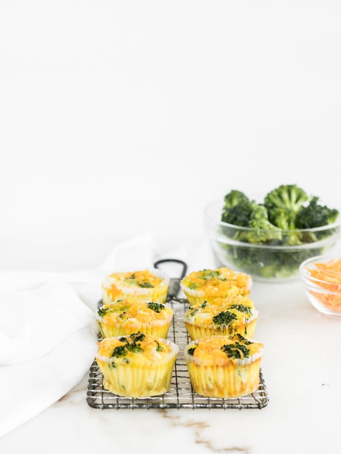
[[[147,232],[119,244],[98,268],[0,272],[0,436],[63,397],[89,371],[104,277],[162,258],[184,260],[188,271],[213,266],[207,244],[191,257],[184,247],[161,256]]]

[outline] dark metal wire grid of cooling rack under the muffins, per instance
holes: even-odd
[[[174,310],[174,316],[168,332],[168,339],[175,342],[179,347],[179,353],[174,364],[170,390],[153,397],[120,397],[103,387],[103,375],[100,372],[96,360],[90,367],[87,402],[93,408],[120,409],[120,408],[258,408],[265,407],[268,403],[266,386],[262,370],[259,372],[260,384],[258,389],[247,396],[235,398],[212,398],[203,397],[194,393],[184,358],[184,348],[190,342],[183,315],[189,307],[186,299],[171,298],[168,303]],[[101,302],[99,303],[99,305]],[[100,339],[100,338],[99,338]]]

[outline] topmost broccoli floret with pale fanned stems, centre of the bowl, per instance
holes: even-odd
[[[264,203],[271,218],[276,208],[288,208],[296,215],[308,199],[308,194],[297,185],[281,185],[265,195]]]

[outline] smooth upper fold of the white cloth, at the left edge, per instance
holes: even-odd
[[[0,289],[0,364],[40,358],[94,324],[94,313],[70,284],[31,285]]]

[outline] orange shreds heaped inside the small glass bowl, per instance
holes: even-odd
[[[332,293],[311,293],[328,309],[341,312],[341,258],[326,263],[314,263],[315,269],[306,268],[310,277],[318,279],[314,284]]]

